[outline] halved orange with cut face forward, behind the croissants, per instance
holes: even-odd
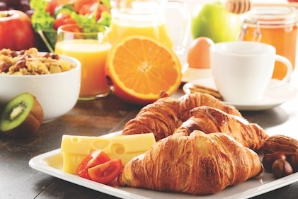
[[[161,91],[171,95],[182,78],[176,53],[157,40],[139,35],[113,45],[105,74],[116,96],[139,105],[156,101]]]

